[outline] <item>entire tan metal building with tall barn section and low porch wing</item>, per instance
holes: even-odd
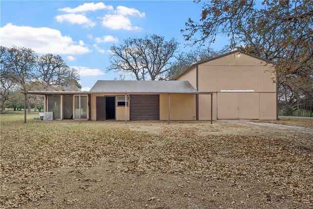
[[[89,92],[45,95],[56,119],[277,119],[273,63],[243,51],[195,63],[173,81],[97,81]]]

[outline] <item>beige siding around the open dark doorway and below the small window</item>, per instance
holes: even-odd
[[[113,93],[92,93],[90,96],[90,119],[96,120],[96,97],[97,96],[116,96],[116,95],[125,95],[125,94],[113,94]],[[116,98],[115,98],[116,99]],[[125,107],[116,107],[115,100],[115,117],[116,120],[125,120]],[[127,120],[129,120],[129,107],[127,107]]]

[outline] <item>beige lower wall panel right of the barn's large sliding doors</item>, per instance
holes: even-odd
[[[276,119],[276,93],[260,93],[259,119]]]

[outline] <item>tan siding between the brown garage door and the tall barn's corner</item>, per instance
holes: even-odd
[[[171,120],[194,120],[196,116],[195,94],[170,94]],[[168,94],[160,94],[160,120],[168,120]]]

